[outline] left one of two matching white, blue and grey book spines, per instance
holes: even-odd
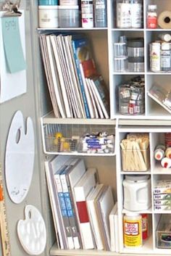
[[[60,175],[54,175],[54,179],[57,185],[57,194],[59,197],[59,205],[61,208],[61,212],[62,212],[62,218],[63,218],[63,222],[64,222],[64,228],[65,228],[65,232],[67,235],[67,241],[68,241],[68,247],[69,249],[74,249],[74,243],[73,243],[73,239],[72,239],[72,231],[71,231],[71,227],[70,227],[70,221],[67,215],[67,207],[65,204],[65,200],[64,200],[64,193],[62,191],[62,183],[60,180]]]

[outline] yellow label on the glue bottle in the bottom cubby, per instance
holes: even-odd
[[[141,219],[124,219],[124,245],[125,247],[142,246],[142,225]]]

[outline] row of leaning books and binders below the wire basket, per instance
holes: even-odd
[[[55,156],[46,160],[45,170],[59,249],[115,251],[117,205],[96,168],[86,169],[83,159]]]

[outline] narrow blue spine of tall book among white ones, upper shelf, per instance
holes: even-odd
[[[82,79],[82,76],[81,76],[81,73],[80,73],[80,60],[78,59],[78,56],[77,56],[74,40],[72,40],[72,49],[73,49],[73,52],[74,52],[75,64],[76,64],[76,68],[77,68],[77,72],[78,72],[78,78],[79,78],[79,81],[80,81],[80,90],[81,90],[82,95],[83,95],[83,102],[84,102],[84,106],[85,106],[85,110],[86,110],[86,117],[91,118],[90,111],[88,109],[88,102],[87,102],[87,99],[86,99],[86,91],[84,89],[83,79]]]

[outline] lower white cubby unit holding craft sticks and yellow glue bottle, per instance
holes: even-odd
[[[159,223],[159,219],[162,214],[170,215],[170,210],[154,210],[154,198],[153,198],[153,189],[156,181],[166,179],[171,180],[171,171],[170,169],[164,169],[161,167],[161,165],[154,160],[154,149],[158,144],[164,144],[164,133],[170,132],[170,128],[156,128],[156,127],[146,127],[146,128],[138,128],[138,127],[132,127],[132,128],[118,128],[118,141],[117,141],[117,199],[118,199],[118,215],[119,215],[119,226],[120,226],[120,252],[121,253],[135,253],[138,252],[139,254],[146,252],[147,254],[170,254],[170,249],[158,249],[156,244],[156,230],[157,225]],[[143,171],[143,172],[128,172],[128,171],[122,171],[122,162],[121,162],[121,153],[120,153],[120,141],[125,138],[126,134],[128,133],[149,133],[149,140],[150,140],[150,146],[149,146],[149,152],[150,152],[150,167],[149,170]],[[128,210],[125,210],[123,207],[123,201],[124,201],[124,194],[123,194],[123,187],[122,187],[122,181],[125,177],[125,175],[150,175],[151,178],[151,207],[148,210],[140,211],[139,213],[147,213],[149,214],[149,234],[150,237],[147,239],[147,241],[144,241],[143,247],[140,249],[128,249],[124,247],[123,244],[123,233],[122,233],[122,218],[123,215],[128,212]]]

